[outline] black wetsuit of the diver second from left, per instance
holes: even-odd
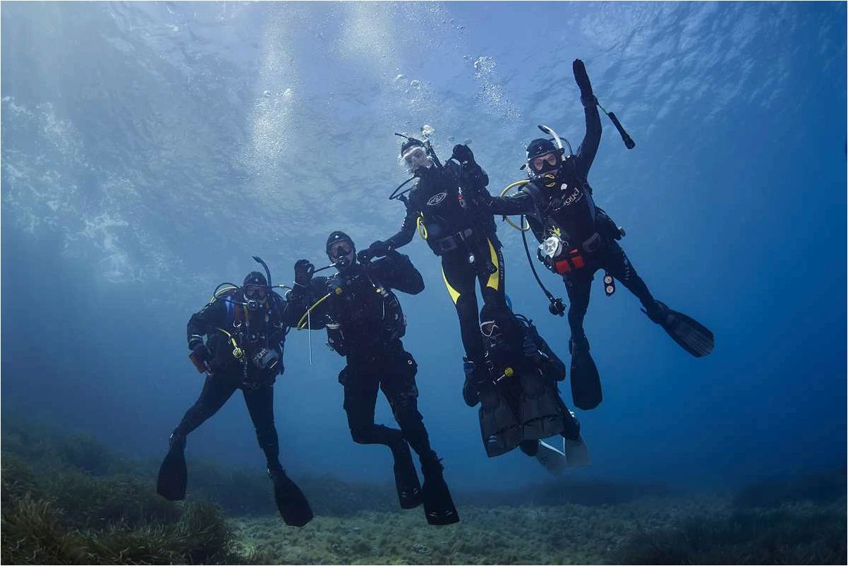
[[[418,366],[400,340],[406,323],[393,289],[408,294],[424,289],[421,273],[397,252],[370,266],[355,263],[334,277],[315,277],[306,289],[296,286],[289,294],[288,322],[295,325],[310,305],[328,294],[311,311],[310,328],[326,326],[328,344],[347,357],[338,381],[344,387],[344,410],[354,442],[396,451],[406,440],[422,464],[438,462],[418,412]],[[374,423],[378,389],[386,395],[400,430]]]

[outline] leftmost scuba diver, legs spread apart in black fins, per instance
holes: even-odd
[[[280,514],[287,525],[303,527],[310,522],[312,509],[282,468],[274,426],[274,382],[283,371],[287,305],[273,291],[265,262],[258,257],[254,260],[265,267],[267,278],[250,272],[241,287],[221,283],[212,300],[188,321],[189,357],[198,372],[206,373],[206,380],[198,401],[170,435],[170,450],[159,468],[156,490],[169,501],[185,498],[187,435],[241,389],[259,447],[265,452]]]

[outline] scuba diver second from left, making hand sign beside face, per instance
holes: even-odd
[[[335,267],[336,275],[313,278],[316,270],[310,261],[294,264],[287,322],[298,329],[326,328],[327,345],[347,358],[338,381],[344,388],[350,435],[358,444],[382,444],[392,451],[400,507],[423,503],[429,524],[456,523],[460,517],[444,482],[444,468],[418,412],[418,365],[400,340],[406,318],[393,292],[421,293],[424,281],[406,255],[387,251],[381,260],[360,263],[355,252],[354,241],[337,231],[326,240],[332,264],[318,270]],[[382,389],[400,429],[374,423],[377,389]],[[410,446],[421,460],[423,487]]]

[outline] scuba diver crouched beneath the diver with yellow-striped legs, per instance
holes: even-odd
[[[562,401],[557,382],[566,378],[566,366],[539,335],[533,321],[509,309],[483,306],[480,331],[492,376],[479,391],[464,389],[466,401],[479,400],[480,433],[488,457],[519,446],[558,473],[589,464],[589,451],[580,435],[580,423]],[[563,451],[541,442],[563,437]],[[541,449],[541,451],[540,451]],[[558,453],[560,457],[555,457]],[[561,462],[558,462],[561,461]]]

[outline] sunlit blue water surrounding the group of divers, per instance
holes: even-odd
[[[578,412],[580,477],[736,485],[845,462],[845,3],[3,3],[2,408],[161,457],[201,378],[185,324],[260,255],[277,283],[326,235],[394,233],[393,132],[468,142],[499,191],[537,124],[577,145],[571,61],[603,118],[589,180],[656,296],[716,334],[695,360],[620,286],[586,320],[605,387]],[[519,234],[499,222],[516,311],[567,357]],[[488,459],[460,397],[437,259],[401,297],[420,408],[455,488],[547,479]],[[558,296],[561,283],[542,273]],[[282,461],[388,481],[349,438],[343,359],[289,335]],[[571,405],[567,386],[566,402]],[[391,421],[385,401],[378,421]],[[190,459],[261,468],[239,396]]]

